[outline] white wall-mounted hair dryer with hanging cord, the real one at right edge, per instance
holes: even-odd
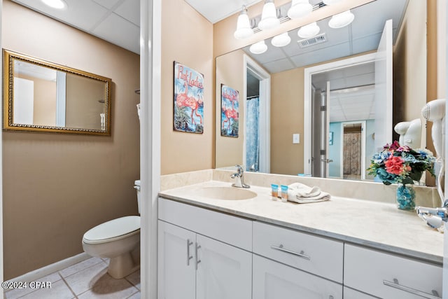
[[[444,153],[445,153],[445,99],[435,99],[428,102],[423,109],[421,109],[421,115],[426,120],[433,122],[433,128],[431,130],[431,137],[433,138],[433,145],[437,160],[435,161],[435,174],[437,175],[437,191],[444,204],[444,195],[442,191],[442,176],[444,172]]]

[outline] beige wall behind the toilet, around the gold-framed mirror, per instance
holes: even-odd
[[[3,47],[112,78],[111,137],[3,132],[4,277],[83,251],[94,225],[137,214],[139,55],[3,0]]]

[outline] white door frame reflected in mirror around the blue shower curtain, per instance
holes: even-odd
[[[244,101],[247,98],[247,72],[260,80],[260,116],[258,118],[258,134],[260,139],[260,165],[258,165],[259,172],[270,173],[271,170],[271,75],[260,67],[260,64],[255,62],[251,57],[244,54],[243,56],[243,84]],[[246,123],[246,105],[242,105],[244,109],[244,123]],[[243,144],[243,162],[246,165],[246,134],[244,134]],[[247,166],[247,165],[246,165]]]

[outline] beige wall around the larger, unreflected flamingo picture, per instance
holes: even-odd
[[[174,61],[204,74],[203,134],[173,130]],[[162,1],[162,174],[212,167],[213,78],[213,25],[184,0]]]

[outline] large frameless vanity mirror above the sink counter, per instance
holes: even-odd
[[[264,53],[247,46],[216,57],[216,86],[240,93],[239,136],[229,138],[220,134],[216,90],[216,168],[241,164],[247,171],[373,181],[366,169],[375,148],[398,139],[393,126],[421,118],[426,104],[426,10],[426,1],[376,0],[351,9],[346,27],[318,20],[320,31],[309,39],[297,28],[288,32],[287,46],[267,39]],[[391,74],[378,81],[386,22]],[[388,103],[379,93],[384,85]]]

